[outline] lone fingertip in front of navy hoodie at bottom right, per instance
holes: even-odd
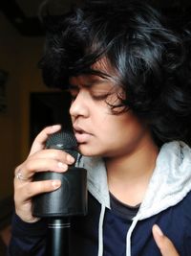
[[[153,236],[162,256],[180,256],[174,244],[163,235],[158,225],[153,226]]]

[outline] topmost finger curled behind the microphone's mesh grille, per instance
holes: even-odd
[[[45,147],[45,143],[49,137],[50,134],[53,134],[54,132],[60,130],[60,125],[55,125],[52,127],[44,128],[34,139],[32,143],[32,149],[30,151],[30,155],[35,151],[41,151]]]

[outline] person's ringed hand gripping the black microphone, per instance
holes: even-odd
[[[15,169],[15,212],[23,221],[34,222],[38,220],[32,216],[32,197],[41,193],[51,192],[61,186],[59,179],[33,181],[33,175],[38,172],[48,172],[49,170],[64,173],[68,170],[68,166],[74,163],[74,157],[69,153],[46,149],[47,139],[60,128],[61,126],[59,125],[44,128],[36,136],[27,159]]]

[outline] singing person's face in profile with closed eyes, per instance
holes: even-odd
[[[109,67],[103,70],[101,66],[99,70],[102,68],[109,74]],[[123,156],[144,145],[148,131],[132,111],[114,114],[111,110],[110,104],[117,105],[117,95],[122,94],[119,86],[93,75],[74,77],[70,83],[73,97],[70,114],[83,155]]]

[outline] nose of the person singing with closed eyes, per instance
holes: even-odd
[[[87,95],[83,91],[79,91],[77,96],[70,107],[70,115],[72,118],[76,118],[77,116],[87,117],[89,114],[88,103],[87,103]]]

